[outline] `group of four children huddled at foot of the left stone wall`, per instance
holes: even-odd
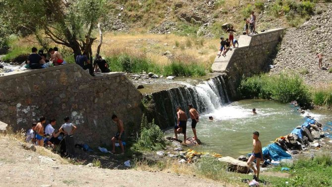
[[[49,125],[46,125],[44,128],[45,123],[46,118],[44,116],[39,118],[39,123],[33,123],[26,133],[26,142],[32,142],[39,146],[46,144],[53,148],[55,148],[55,145],[60,145],[64,149],[66,156],[70,158],[75,157],[73,133],[77,127],[70,123],[69,117],[64,118],[64,124],[61,125],[57,132],[55,132],[54,128],[56,125],[55,119],[50,120]],[[62,135],[59,136],[60,134]]]

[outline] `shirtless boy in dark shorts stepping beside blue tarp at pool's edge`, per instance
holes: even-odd
[[[255,179],[256,181],[259,180],[259,171],[260,171],[260,162],[263,162],[263,152],[262,152],[262,143],[261,141],[258,139],[259,137],[259,132],[255,131],[252,135],[253,138],[253,150],[252,150],[252,155],[250,156],[247,165],[249,166],[249,168],[252,168],[254,170],[254,177],[253,179]],[[256,168],[252,165],[252,162],[256,159]],[[257,177],[256,177],[257,176]]]

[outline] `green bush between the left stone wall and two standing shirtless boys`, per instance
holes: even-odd
[[[147,118],[143,115],[141,133],[133,148],[135,150],[161,150],[165,147],[166,140],[163,131],[155,124],[155,120],[148,123]]]

